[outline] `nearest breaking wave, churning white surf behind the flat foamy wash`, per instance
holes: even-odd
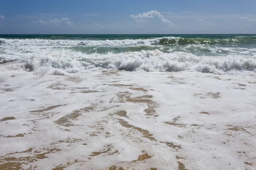
[[[198,71],[214,74],[255,74],[256,55],[199,57],[160,50],[114,54],[84,54],[69,49],[2,54],[0,71],[26,70],[36,74],[72,74],[115,69],[123,71]]]

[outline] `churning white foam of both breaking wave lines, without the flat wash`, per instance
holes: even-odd
[[[175,37],[164,38],[177,39]],[[153,44],[161,39],[43,40],[2,38],[0,39],[0,71],[26,70],[34,71],[36,74],[73,74],[104,69],[160,72],[198,71],[214,74],[255,74],[256,72],[256,48],[177,45],[175,47],[160,46],[159,49],[147,51],[119,53],[108,51],[93,54],[70,48],[79,44],[96,46],[96,48],[137,45],[152,45],[153,47]],[[206,51],[204,56],[202,56],[204,54],[202,51]]]

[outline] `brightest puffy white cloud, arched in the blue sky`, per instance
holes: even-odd
[[[168,26],[174,26],[174,24],[171,21],[165,19],[160,12],[155,11],[155,10],[143,12],[142,14],[138,14],[138,15],[131,15],[131,17],[134,18],[135,20],[158,17],[158,18],[160,18],[162,23],[167,24]]]

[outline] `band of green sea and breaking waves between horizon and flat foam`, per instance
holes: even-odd
[[[255,74],[256,34],[0,35],[0,71]],[[5,64],[5,65],[3,65]]]

